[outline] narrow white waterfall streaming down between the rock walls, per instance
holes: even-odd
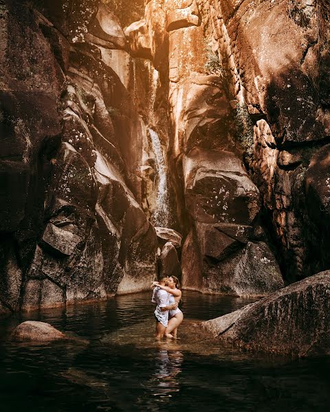
[[[155,130],[148,128],[151,138],[151,146],[155,154],[155,165],[158,174],[158,187],[156,197],[156,209],[153,216],[155,226],[168,227],[169,224],[169,210],[168,210],[168,192],[166,179],[166,166],[164,162],[164,155],[162,145],[160,144],[159,136]]]

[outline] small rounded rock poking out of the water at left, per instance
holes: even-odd
[[[12,331],[11,339],[23,342],[47,342],[65,339],[65,334],[55,329],[50,323],[25,321]]]

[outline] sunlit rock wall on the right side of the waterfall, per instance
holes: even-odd
[[[328,2],[151,0],[129,43],[168,76],[184,286],[262,295],[329,268]]]

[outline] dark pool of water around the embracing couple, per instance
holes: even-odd
[[[184,293],[186,319],[210,319],[249,300]],[[175,345],[138,347],[104,336],[153,323],[150,294],[11,315],[0,319],[0,410],[7,411],[329,411],[328,358],[196,354]],[[89,343],[8,341],[24,320],[46,321]],[[116,332],[117,331],[117,332]],[[123,335],[124,336],[124,335]],[[150,340],[150,336],[146,336]]]

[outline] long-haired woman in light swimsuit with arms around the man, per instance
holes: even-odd
[[[158,282],[153,282],[155,286],[166,290],[167,293],[170,293],[170,304],[175,302],[179,304],[181,299],[181,290],[179,279],[176,276],[168,277],[168,286],[160,285]],[[170,339],[177,339],[177,328],[184,320],[184,314],[179,308],[168,311],[168,325],[165,330],[165,336]]]

